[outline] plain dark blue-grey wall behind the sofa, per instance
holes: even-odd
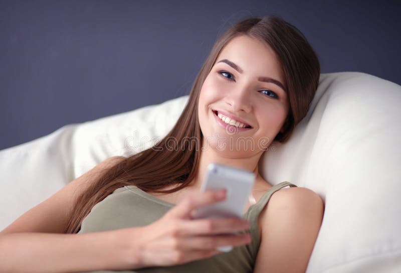
[[[400,1],[0,1],[0,149],[187,94],[247,16],[295,25],[322,73],[401,84],[400,13]]]

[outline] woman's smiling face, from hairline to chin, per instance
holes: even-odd
[[[284,84],[281,64],[268,45],[248,36],[231,40],[200,90],[203,149],[233,157],[265,151],[288,114]]]

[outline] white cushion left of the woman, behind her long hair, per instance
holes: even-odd
[[[187,96],[80,124],[0,151],[0,230],[112,156],[148,148],[167,134]]]

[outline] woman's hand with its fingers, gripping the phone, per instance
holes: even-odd
[[[219,246],[249,243],[250,234],[222,234],[248,229],[249,222],[245,219],[192,219],[195,209],[225,198],[224,190],[192,194],[159,220],[140,227],[136,233],[139,236],[132,238],[135,245],[133,260],[139,263],[136,268],[186,263],[221,253],[216,249]]]

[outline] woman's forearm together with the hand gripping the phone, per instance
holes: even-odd
[[[0,272],[82,272],[166,266],[221,253],[250,242],[240,217],[192,219],[193,210],[224,200],[222,191],[187,196],[141,227],[81,234],[0,233]],[[219,234],[219,235],[218,235]]]

